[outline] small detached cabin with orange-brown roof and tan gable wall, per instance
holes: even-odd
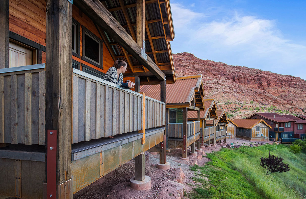
[[[234,119],[237,124],[236,137],[251,141],[267,141],[269,128],[272,128],[263,119]]]

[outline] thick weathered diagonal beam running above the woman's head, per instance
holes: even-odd
[[[130,52],[141,65],[144,65],[144,67],[151,71],[159,80],[163,80],[164,75],[159,67],[150,57],[147,57],[147,60],[145,60],[141,56],[140,46],[137,45],[100,1],[75,0],[73,3],[95,23],[99,24],[108,35],[111,35],[112,38],[118,42],[119,45]]]

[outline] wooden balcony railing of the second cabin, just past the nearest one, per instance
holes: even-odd
[[[200,132],[200,121],[188,121],[186,125],[187,137]],[[168,137],[183,138],[183,123],[168,123]]]

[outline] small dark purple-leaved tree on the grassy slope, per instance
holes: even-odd
[[[267,169],[267,174],[274,172],[288,172],[290,170],[289,165],[283,162],[283,158],[271,155],[270,151],[268,157],[261,157],[260,160],[260,166]]]

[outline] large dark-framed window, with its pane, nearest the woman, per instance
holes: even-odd
[[[91,33],[87,28],[82,26],[82,60],[92,65],[102,68],[102,47],[103,43],[100,38]]]

